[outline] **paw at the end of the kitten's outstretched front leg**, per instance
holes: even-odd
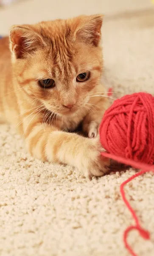
[[[90,145],[82,157],[81,170],[84,176],[90,180],[93,176],[100,177],[109,172],[110,161],[101,156],[101,151],[98,139],[90,140]]]

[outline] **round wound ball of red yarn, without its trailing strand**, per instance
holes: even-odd
[[[134,93],[115,100],[100,125],[102,146],[111,154],[154,163],[154,97]]]

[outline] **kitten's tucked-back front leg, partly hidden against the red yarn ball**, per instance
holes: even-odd
[[[95,138],[98,135],[98,127],[105,110],[109,106],[109,102],[103,97],[100,97],[97,103],[95,103],[95,108],[93,105],[94,104],[92,104],[91,111],[85,116],[82,123],[83,131],[89,138]]]

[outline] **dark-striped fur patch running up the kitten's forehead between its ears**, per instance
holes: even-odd
[[[53,78],[59,77],[61,80],[69,79],[73,76],[73,60],[76,57],[75,42],[73,40],[70,26],[66,21],[54,21],[52,26],[41,23],[39,26],[42,38],[47,42],[47,59],[51,61]],[[50,66],[50,63],[49,63]],[[69,75],[69,76],[68,76]]]

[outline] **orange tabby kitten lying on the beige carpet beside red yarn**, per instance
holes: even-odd
[[[13,26],[0,39],[1,117],[34,157],[76,166],[89,178],[108,165],[97,136],[107,106],[99,96],[101,26],[102,15],[83,15]],[[89,138],[68,132],[81,122]]]

